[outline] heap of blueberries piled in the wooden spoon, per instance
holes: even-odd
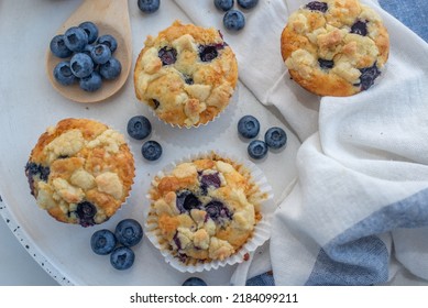
[[[102,86],[102,79],[116,79],[122,70],[113,56],[118,42],[110,34],[98,36],[98,28],[90,21],[55,35],[50,47],[55,56],[64,59],[53,72],[63,86],[78,82],[85,91],[94,92]]]

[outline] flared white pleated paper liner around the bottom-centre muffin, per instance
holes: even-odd
[[[231,256],[222,261],[215,260],[206,263],[197,263],[196,265],[184,264],[178,260],[178,257],[174,256],[171,253],[169,244],[166,241],[160,243],[160,239],[162,238],[161,235],[156,234],[157,223],[156,222],[149,223],[146,219],[144,224],[145,235],[149,238],[152,244],[161,252],[161,254],[165,258],[165,262],[171,264],[175,270],[183,273],[204,272],[204,271],[217,270],[226,265],[242,263],[245,261],[245,258],[248,258],[249,254],[254,252],[271,237],[271,220],[273,217],[273,212],[275,210],[275,205],[273,201],[273,197],[274,197],[273,189],[271,185],[267,183],[267,179],[264,176],[263,172],[250,161],[246,160],[244,161],[234,157],[233,155],[229,155],[219,151],[200,152],[197,154],[188,155],[187,157],[177,160],[176,162],[168,164],[163,170],[158,172],[156,176],[163,177],[169,174],[180,163],[191,162],[204,157],[212,157],[212,155],[216,155],[217,157],[220,156],[222,158],[227,158],[237,163],[237,165],[241,166],[240,168],[238,168],[240,173],[242,170],[248,170],[250,173],[251,182],[256,184],[256,186],[259,187],[257,191],[254,191],[251,195],[251,199],[253,198],[257,199],[257,202],[260,204],[260,212],[262,213],[262,219],[255,224],[252,237],[234,254],[232,254]],[[150,201],[152,201],[150,194],[147,194],[146,197]]]

